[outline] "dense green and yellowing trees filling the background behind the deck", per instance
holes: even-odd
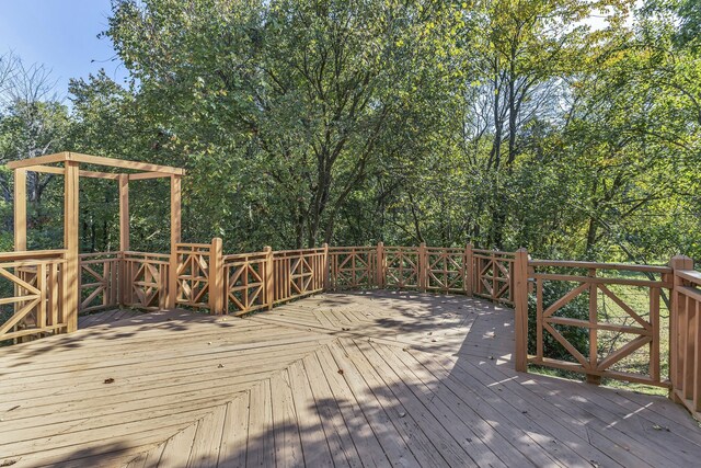
[[[227,251],[382,240],[701,258],[698,2],[634,5],[118,0],[104,35],[125,85],[73,80],[66,106],[2,57],[0,162],[76,150],[185,167],[184,237]],[[31,242],[46,246],[60,185],[30,183]],[[116,248],[115,197],[83,184],[83,249]],[[168,187],[143,181],[133,199],[134,247],[165,249]]]

